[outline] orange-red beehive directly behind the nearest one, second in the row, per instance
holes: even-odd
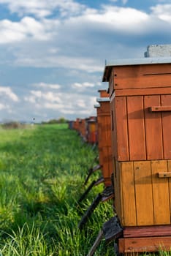
[[[97,102],[99,102],[99,108],[97,108],[99,163],[102,165],[102,176],[107,187],[111,185],[111,174],[113,173],[110,99],[109,97],[101,97],[97,99]]]

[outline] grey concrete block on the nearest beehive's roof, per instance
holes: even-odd
[[[147,51],[144,53],[145,57],[170,57],[171,45],[148,45]]]

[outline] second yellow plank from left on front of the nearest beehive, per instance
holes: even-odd
[[[137,225],[153,225],[151,162],[134,162]]]

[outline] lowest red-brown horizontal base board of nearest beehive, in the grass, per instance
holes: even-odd
[[[119,239],[119,252],[165,252],[170,251],[170,244],[171,236],[121,238]]]

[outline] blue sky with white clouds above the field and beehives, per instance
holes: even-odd
[[[171,43],[171,0],[0,0],[0,121],[92,116],[105,59]]]

